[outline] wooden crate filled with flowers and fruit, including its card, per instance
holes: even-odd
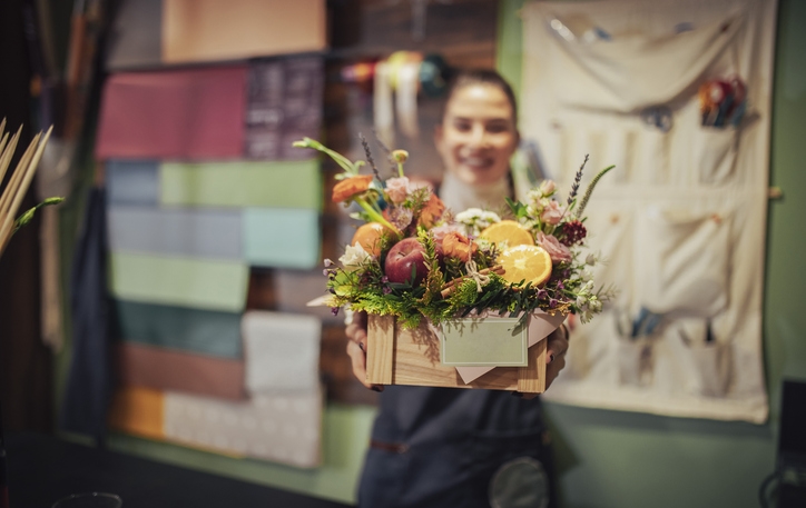
[[[343,170],[333,201],[357,205],[352,217],[363,225],[337,263],[325,259],[324,303],[370,316],[368,382],[541,392],[542,339],[569,313],[588,321],[613,295],[592,280],[597,256],[582,253],[582,212],[612,167],[581,200],[584,162],[563,202],[547,180],[525,203],[508,199],[509,217],[454,215],[405,176],[403,150],[389,153],[393,173],[384,179],[365,141],[367,160],[355,162],[309,138],[294,145],[333,158]],[[362,175],[367,162],[372,171]]]

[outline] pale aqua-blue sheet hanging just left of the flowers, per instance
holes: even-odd
[[[320,215],[316,210],[244,210],[244,253],[249,265],[314,268],[320,263]]]

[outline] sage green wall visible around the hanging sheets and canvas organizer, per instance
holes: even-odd
[[[522,0],[502,0],[499,66],[520,82]],[[755,426],[665,418],[547,404],[561,470],[563,508],[757,507],[773,470],[784,377],[806,379],[806,312],[797,296],[806,281],[806,2],[782,0],[775,72],[770,202],[765,287],[770,420]],[[331,405],[325,464],[305,471],[238,460],[184,447],[114,436],[114,449],[168,462],[352,502],[374,409]]]

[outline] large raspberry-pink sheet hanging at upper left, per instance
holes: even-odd
[[[104,89],[96,157],[240,158],[246,77],[246,66],[111,76]]]

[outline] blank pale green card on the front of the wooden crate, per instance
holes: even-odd
[[[442,326],[442,365],[525,367],[529,328],[518,318],[466,318]]]

